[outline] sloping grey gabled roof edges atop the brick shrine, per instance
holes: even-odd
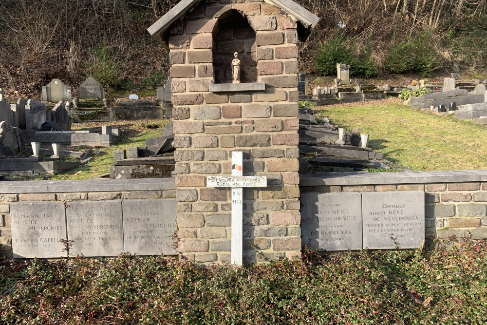
[[[187,12],[200,2],[201,0],[181,0],[164,16],[154,22],[147,30],[153,38],[164,46],[165,49],[169,50],[169,27],[179,19],[183,19]],[[319,21],[319,18],[316,15],[292,0],[266,0],[266,2],[280,8],[286,14],[296,19],[298,22],[298,38],[302,42],[306,41]]]

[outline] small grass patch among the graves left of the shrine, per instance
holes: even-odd
[[[116,145],[107,147],[96,147],[101,153],[94,155],[94,159],[83,165],[63,173],[52,175],[49,179],[90,179],[107,172],[110,172],[110,166],[113,165],[113,151],[127,150],[129,147],[145,146],[148,138],[162,136],[162,130],[169,122],[164,120],[148,121],[115,121],[115,122],[92,122],[92,123],[73,123],[73,130],[88,130],[90,128],[101,128],[102,125],[110,125],[113,128],[120,128],[125,131],[122,141]],[[86,151],[88,146],[67,147],[71,151]],[[80,173],[78,173],[80,172]]]

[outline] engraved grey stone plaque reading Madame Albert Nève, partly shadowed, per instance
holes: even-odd
[[[360,193],[301,194],[303,245],[315,250],[362,249]]]

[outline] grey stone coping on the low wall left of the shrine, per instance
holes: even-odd
[[[2,181],[0,194],[175,190],[174,178]]]

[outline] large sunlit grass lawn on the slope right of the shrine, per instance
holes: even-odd
[[[369,146],[414,171],[487,169],[487,127],[421,112],[391,99],[314,108],[318,117],[362,134]]]

